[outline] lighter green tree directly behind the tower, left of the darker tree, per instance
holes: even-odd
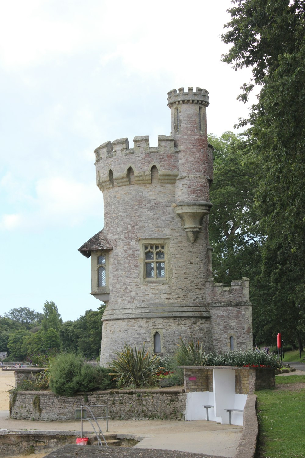
[[[209,142],[215,148],[209,216],[214,278],[231,283],[236,278],[256,277],[261,234],[254,210],[256,169],[247,139],[225,132],[219,138],[209,136]]]

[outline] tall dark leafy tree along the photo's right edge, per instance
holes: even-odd
[[[305,2],[233,0],[222,35],[223,57],[236,70],[252,68],[239,96],[261,85],[248,120],[257,155],[256,205],[266,240],[262,276],[273,311],[274,333],[294,343],[303,333],[305,299]],[[276,329],[277,328],[277,329]],[[304,333],[303,333],[304,335]]]

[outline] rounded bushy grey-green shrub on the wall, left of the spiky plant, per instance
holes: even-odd
[[[93,391],[111,386],[108,371],[85,364],[80,355],[59,353],[48,369],[49,387],[59,396],[73,396],[78,391]]]

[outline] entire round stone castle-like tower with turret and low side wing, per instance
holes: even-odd
[[[125,343],[173,354],[191,336],[208,350],[252,346],[249,280],[214,283],[209,246],[213,147],[208,92],[168,93],[171,135],[96,148],[105,225],[79,251],[91,256],[91,294],[105,302],[101,365]]]

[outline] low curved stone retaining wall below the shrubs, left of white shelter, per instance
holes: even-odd
[[[186,393],[183,388],[107,390],[55,396],[51,391],[19,391],[10,395],[11,418],[18,420],[75,420],[81,405],[108,406],[112,420],[184,420]],[[105,409],[93,409],[105,416]]]

